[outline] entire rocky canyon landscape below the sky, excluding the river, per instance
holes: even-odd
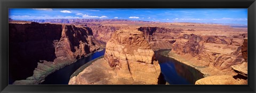
[[[195,84],[247,84],[247,28],[131,20],[30,21],[9,23],[9,51],[14,58],[9,71],[19,72],[13,75],[19,77],[13,84],[42,82],[49,71],[57,70],[53,68],[103,47],[104,57],[70,77],[70,85],[165,84],[154,53],[163,49],[171,50],[166,57],[203,73]]]

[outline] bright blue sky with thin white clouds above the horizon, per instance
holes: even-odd
[[[126,19],[247,25],[247,8],[10,8],[13,20]]]

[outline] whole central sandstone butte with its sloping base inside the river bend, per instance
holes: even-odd
[[[69,85],[161,83],[165,84],[160,66],[143,32],[129,28],[113,33],[104,58],[69,81]]]

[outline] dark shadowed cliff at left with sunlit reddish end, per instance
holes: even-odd
[[[9,23],[9,75],[12,80],[26,79],[42,71],[44,62],[66,65],[99,47],[89,27]]]

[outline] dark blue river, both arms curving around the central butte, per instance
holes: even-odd
[[[198,70],[186,66],[183,63],[175,61],[169,57],[165,57],[163,54],[167,54],[170,50],[155,51],[156,59],[159,61],[161,72],[163,73],[165,80],[170,85],[193,85],[196,80],[203,78],[203,74]],[[62,69],[59,69],[45,78],[45,81],[40,83],[41,85],[67,85],[70,76],[85,63],[101,57],[104,55],[105,49],[97,51],[88,57],[77,60]]]

